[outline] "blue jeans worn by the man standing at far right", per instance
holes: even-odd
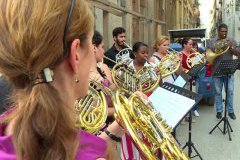
[[[233,113],[233,87],[234,87],[234,75],[223,76],[223,77],[214,77],[214,84],[216,89],[215,94],[215,106],[217,112],[223,111],[223,103],[222,103],[222,88],[224,84],[224,88],[226,88],[228,79],[228,90],[227,90],[227,109],[229,113]],[[225,90],[226,92],[226,90]]]

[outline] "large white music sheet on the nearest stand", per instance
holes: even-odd
[[[161,87],[158,87],[148,98],[172,128],[176,127],[178,122],[195,104],[194,100]]]

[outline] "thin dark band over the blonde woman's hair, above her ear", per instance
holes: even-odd
[[[63,34],[63,47],[64,47],[63,57],[66,57],[67,53],[68,53],[68,46],[67,46],[68,44],[67,44],[66,36],[67,36],[68,26],[69,26],[69,24],[71,22],[72,12],[73,12],[73,8],[74,8],[74,2],[75,2],[75,0],[71,0],[70,8],[68,10],[67,20],[66,20],[65,27],[64,27],[64,34]]]

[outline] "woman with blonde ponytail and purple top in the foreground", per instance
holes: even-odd
[[[1,0],[0,35],[0,73],[15,102],[0,117],[0,159],[105,159],[111,138],[75,127],[93,60],[85,0]],[[123,134],[116,122],[108,130]]]

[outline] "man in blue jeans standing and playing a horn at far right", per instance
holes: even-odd
[[[218,56],[213,61],[213,69],[216,68],[216,64],[218,64],[222,60],[231,60],[233,59],[233,55],[238,56],[239,55],[239,48],[237,46],[237,42],[227,36],[228,33],[228,27],[226,24],[220,24],[218,26],[218,35],[209,41],[207,41],[207,48],[211,49],[213,52],[216,50],[216,43],[219,41],[227,41],[227,46],[229,47],[228,51],[220,56]],[[226,46],[226,47],[227,47]],[[222,118],[222,88],[223,84],[226,87],[226,82],[228,79],[228,95],[226,99],[227,107],[228,107],[228,115],[231,119],[236,119],[236,115],[234,114],[233,109],[233,88],[234,88],[234,75],[221,76],[221,77],[214,77],[214,83],[215,83],[215,106],[217,111],[217,119]]]

